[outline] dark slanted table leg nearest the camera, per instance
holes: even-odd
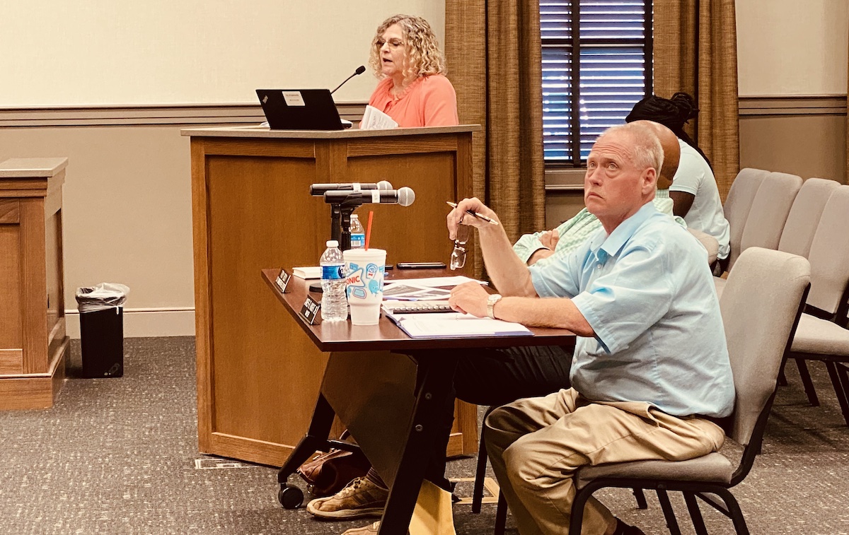
[[[427,461],[430,460],[436,434],[440,432],[440,419],[452,392],[457,360],[457,357],[444,353],[436,358],[431,354],[430,357],[417,359],[419,382],[413,416],[401,462],[380,521],[380,535],[407,533],[419,497],[419,488],[428,468]]]

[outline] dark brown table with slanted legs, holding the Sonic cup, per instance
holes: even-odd
[[[278,473],[278,497],[284,507],[296,507],[302,494],[288,486],[287,480],[297,467],[316,450],[350,448],[328,439],[334,416],[339,415],[390,486],[380,522],[381,535],[403,535],[408,530],[427,470],[427,462],[423,460],[430,459],[441,409],[451,395],[453,374],[461,356],[475,348],[575,344],[573,333],[543,328],[532,328],[532,337],[410,338],[385,316],[381,316],[376,326],[354,326],[349,321],[322,324],[320,319],[310,325],[300,314],[309,294],[308,284],[293,276],[286,293],[280,293],[274,282],[279,271],[262,270],[262,278],[312,343],[323,352],[333,353],[309,430]],[[387,280],[451,274],[447,270],[395,270]],[[311,297],[319,300],[320,294],[313,293]],[[394,354],[381,354],[381,351]],[[412,380],[404,379],[405,374],[409,376],[405,366],[413,367]],[[376,372],[380,381],[374,378]],[[362,391],[369,388],[368,393]],[[413,394],[409,403],[405,403],[403,395],[398,395],[406,388]],[[375,406],[380,402],[385,403]],[[292,496],[287,496],[290,493]]]

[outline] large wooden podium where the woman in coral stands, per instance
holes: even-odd
[[[371,245],[387,264],[451,257],[447,200],[472,193],[478,125],[391,131],[183,130],[191,137],[198,442],[201,452],[283,465],[318,398],[322,354],[261,279],[269,267],[317,265],[330,208],[325,182],[411,187],[409,207],[374,210]],[[404,358],[399,355],[399,358]],[[458,404],[449,454],[472,454],[476,408]]]

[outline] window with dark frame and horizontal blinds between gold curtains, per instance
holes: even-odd
[[[580,167],[651,93],[651,0],[540,0],[548,166]]]

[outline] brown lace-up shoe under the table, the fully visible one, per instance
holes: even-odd
[[[380,488],[365,477],[357,477],[333,496],[313,499],[306,504],[306,511],[325,520],[380,516],[388,497],[388,489]]]

